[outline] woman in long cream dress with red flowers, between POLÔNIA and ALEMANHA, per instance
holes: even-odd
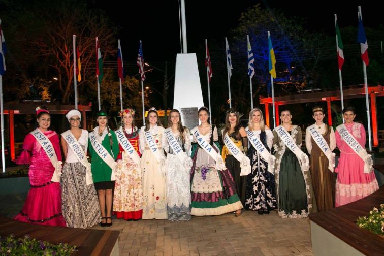
[[[167,191],[166,174],[162,172],[155,155],[149,148],[145,133],[150,132],[157,151],[161,157],[164,156],[163,145],[166,143],[164,127],[162,126],[155,108],[148,111],[145,126],[140,129],[140,148],[143,151],[141,156],[141,169],[143,177],[143,219],[166,219],[167,218]]]

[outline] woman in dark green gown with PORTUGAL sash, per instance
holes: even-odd
[[[301,147],[300,126],[291,122],[291,111],[280,112],[281,125],[289,133],[297,147]],[[285,146],[276,129],[273,130],[273,148],[275,150],[275,181],[279,216],[282,218],[304,218],[316,212],[312,181],[309,171],[302,170],[295,153]]]

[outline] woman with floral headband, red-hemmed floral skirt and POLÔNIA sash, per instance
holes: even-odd
[[[127,221],[137,221],[143,215],[143,186],[140,165],[139,133],[135,126],[135,110],[119,112],[121,126],[115,131],[120,152],[117,155],[113,214]]]

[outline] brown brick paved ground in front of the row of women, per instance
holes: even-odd
[[[0,215],[13,217],[26,194],[0,195]],[[313,255],[308,218],[282,219],[276,212],[245,211],[195,217],[190,221],[113,218],[120,255]]]

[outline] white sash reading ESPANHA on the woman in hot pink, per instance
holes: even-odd
[[[57,160],[57,155],[55,149],[53,148],[52,142],[39,129],[35,129],[34,131],[30,132],[30,134],[33,135],[35,139],[39,142],[39,144],[42,146],[45,153],[48,155],[51,164],[55,168],[51,181],[60,182],[62,162]]]

